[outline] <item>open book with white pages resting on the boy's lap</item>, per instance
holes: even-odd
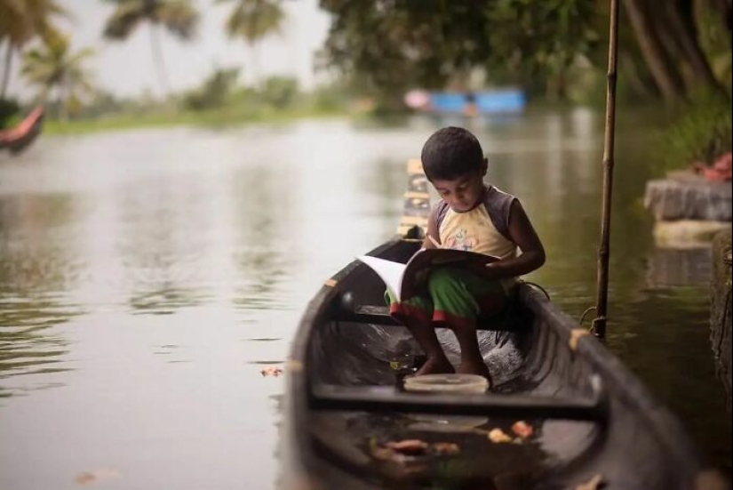
[[[483,253],[452,250],[449,248],[423,248],[415,253],[406,264],[386,261],[378,257],[363,255],[357,257],[378,274],[385,285],[392,290],[397,300],[411,298],[425,286],[427,276],[438,267],[461,267],[467,262],[488,264],[498,257]]]

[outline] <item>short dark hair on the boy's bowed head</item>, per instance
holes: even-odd
[[[429,181],[453,181],[481,171],[483,158],[481,143],[474,134],[452,126],[434,133],[422,152],[423,169]]]

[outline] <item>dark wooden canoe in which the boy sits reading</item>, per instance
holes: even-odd
[[[395,239],[371,254],[407,261],[418,246]],[[286,403],[288,487],[565,490],[598,477],[609,490],[696,488],[701,462],[681,423],[538,289],[522,285],[514,313],[479,332],[496,389],[450,396],[398,388],[392,361],[419,349],[386,314],[383,291],[355,261],[323,285],[301,320]],[[440,337],[456,360],[455,338]],[[517,421],[534,429],[521,444],[488,437],[494,429],[511,435]],[[460,452],[375,451],[405,439],[454,443]]]

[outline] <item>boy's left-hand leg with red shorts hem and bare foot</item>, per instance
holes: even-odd
[[[389,303],[389,312],[402,325],[407,327],[427,356],[426,363],[417,374],[455,373],[453,365],[441,347],[433,328],[433,303],[427,298],[415,297],[398,302],[394,294],[387,290],[385,299]]]

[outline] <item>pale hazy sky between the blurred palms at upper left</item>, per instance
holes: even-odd
[[[112,43],[101,36],[105,20],[113,10],[109,4],[102,0],[60,3],[71,13],[71,20],[61,25],[72,35],[74,47],[91,46],[96,50],[96,56],[88,63],[96,84],[120,95],[138,95],[146,89],[159,91],[147,26],[141,26],[127,41]],[[287,2],[289,16],[282,34],[259,44],[256,57],[243,41],[227,38],[224,23],[233,4],[215,4],[214,0],[194,3],[201,12],[195,41],[181,43],[163,36],[163,53],[173,90],[199,84],[214,68],[241,68],[243,81],[248,82],[254,69],[252,63],[256,63],[261,75],[296,76],[305,87],[315,84],[313,58],[329,27],[328,15],[318,9],[318,0]],[[11,92],[28,94],[17,76]]]

